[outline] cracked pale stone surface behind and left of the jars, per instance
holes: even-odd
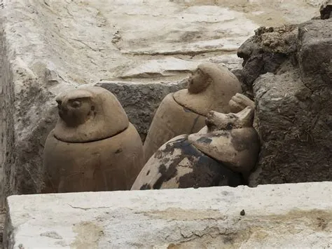
[[[154,83],[130,121],[144,138],[164,94],[202,61],[241,68],[235,53],[260,25],[303,22],[317,1],[2,0],[0,165],[3,196],[43,185],[41,156],[57,120],[55,95],[82,84]],[[110,83],[111,84],[111,83]],[[104,84],[106,87],[106,85]],[[108,85],[113,89],[118,86]],[[153,91],[153,90],[152,90]],[[132,90],[132,99],[136,99]],[[122,94],[123,95],[123,94]],[[119,93],[121,96],[121,93]],[[130,100],[124,96],[123,100]],[[131,101],[131,100],[130,100]],[[126,109],[126,110],[127,110]]]

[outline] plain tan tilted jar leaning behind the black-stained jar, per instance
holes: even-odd
[[[145,161],[172,137],[198,132],[210,110],[230,112],[230,98],[241,91],[240,82],[226,67],[199,65],[187,89],[170,93],[160,103],[144,142]]]

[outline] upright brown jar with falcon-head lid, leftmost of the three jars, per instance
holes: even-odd
[[[116,97],[92,86],[56,101],[60,119],[45,144],[43,192],[130,189],[144,165],[143,146]]]

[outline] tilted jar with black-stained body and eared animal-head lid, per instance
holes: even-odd
[[[209,112],[198,133],[174,137],[151,156],[132,190],[247,184],[259,152],[253,119],[251,107],[237,114]]]

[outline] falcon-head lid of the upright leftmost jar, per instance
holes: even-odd
[[[129,121],[116,97],[104,88],[82,87],[56,97],[60,119],[54,135],[64,142],[91,142],[125,130]]]

